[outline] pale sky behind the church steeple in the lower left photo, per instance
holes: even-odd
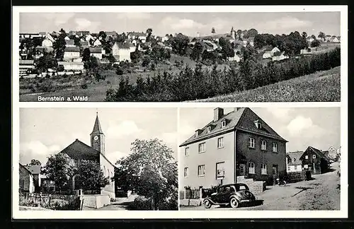
[[[158,138],[174,152],[177,160],[176,108],[99,108],[105,155],[112,162],[130,154],[135,139]],[[75,139],[91,145],[90,134],[96,108],[21,108],[20,163],[59,153]]]

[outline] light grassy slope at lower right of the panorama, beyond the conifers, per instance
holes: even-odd
[[[341,67],[253,90],[191,102],[339,102]]]

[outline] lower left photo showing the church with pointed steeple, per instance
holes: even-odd
[[[176,108],[22,108],[20,117],[20,210],[178,210]]]

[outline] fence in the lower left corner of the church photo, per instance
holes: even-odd
[[[20,203],[23,206],[41,206],[53,210],[80,210],[80,200],[76,195],[33,194],[20,192]]]

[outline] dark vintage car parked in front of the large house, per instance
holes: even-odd
[[[225,184],[217,188],[217,192],[203,200],[205,209],[212,205],[231,206],[236,209],[240,204],[252,203],[256,197],[249,191],[246,184]]]

